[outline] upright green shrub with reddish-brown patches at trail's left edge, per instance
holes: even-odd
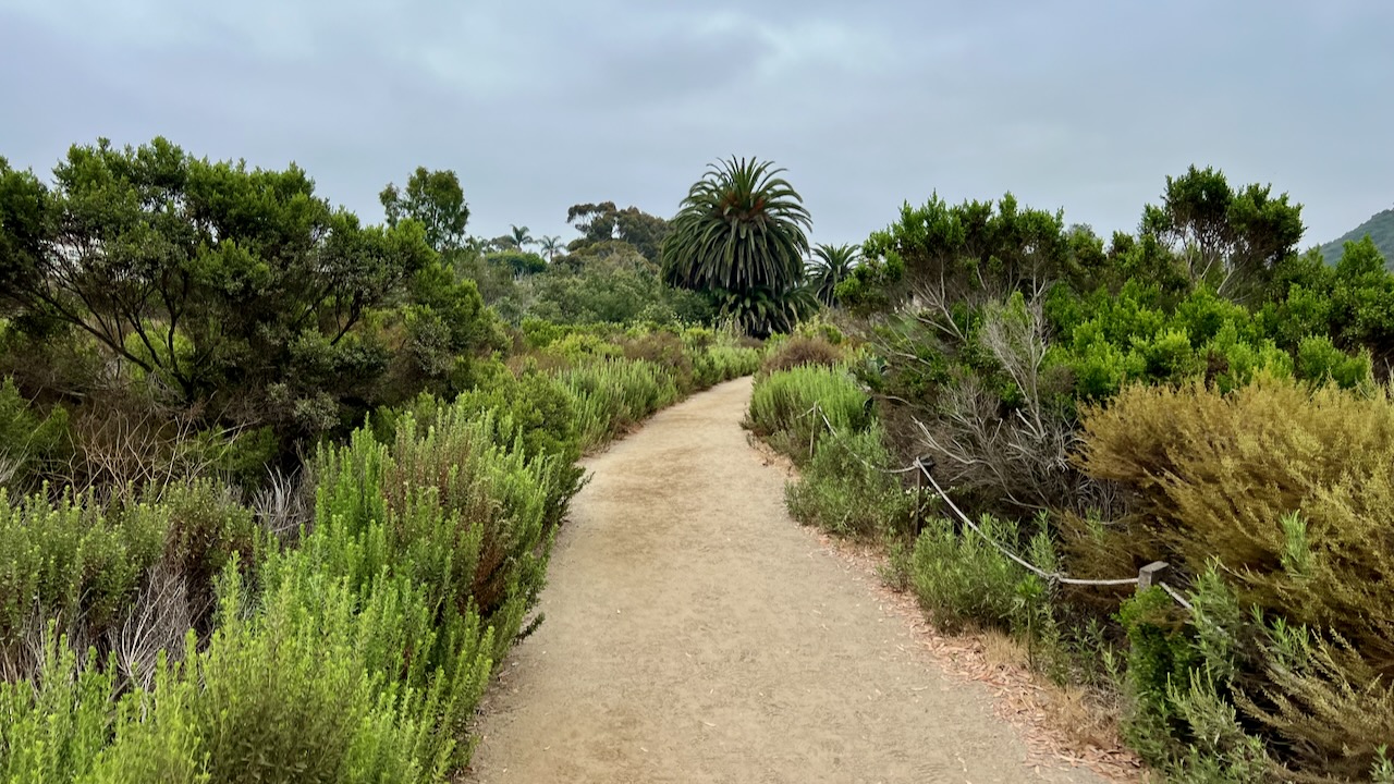
[[[530,463],[495,444],[492,417],[450,407],[428,428],[406,417],[390,446],[360,430],[322,449],[316,526],[304,547],[328,548],[318,554],[325,568],[355,587],[382,569],[408,576],[428,586],[439,612],[477,612],[507,646],[542,587],[555,458]],[[379,527],[386,538],[360,550]]]

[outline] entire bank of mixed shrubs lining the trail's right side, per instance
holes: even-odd
[[[1167,777],[1391,780],[1394,275],[1369,239],[1327,265],[1301,234],[1285,194],[1196,167],[1107,241],[1011,195],[907,205],[836,287],[857,384],[771,368],[753,427],[803,465],[799,519],[878,537],[938,624],[1090,685]],[[906,533],[885,470],[919,456],[976,532]],[[998,545],[1047,575],[1164,561],[1186,604]]]

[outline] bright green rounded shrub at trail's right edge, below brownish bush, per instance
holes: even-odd
[[[873,420],[868,409],[866,393],[845,370],[796,367],[756,382],[746,427],[803,462],[828,435],[828,424],[846,435],[867,430]]]

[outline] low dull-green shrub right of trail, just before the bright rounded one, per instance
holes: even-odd
[[[796,520],[836,534],[899,534],[909,530],[914,498],[887,474],[891,456],[873,427],[818,444],[797,481],[785,488]]]

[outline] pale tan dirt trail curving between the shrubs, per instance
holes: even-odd
[[[1101,781],[1029,764],[986,686],[789,519],[749,396],[723,384],[587,462],[467,781]]]

